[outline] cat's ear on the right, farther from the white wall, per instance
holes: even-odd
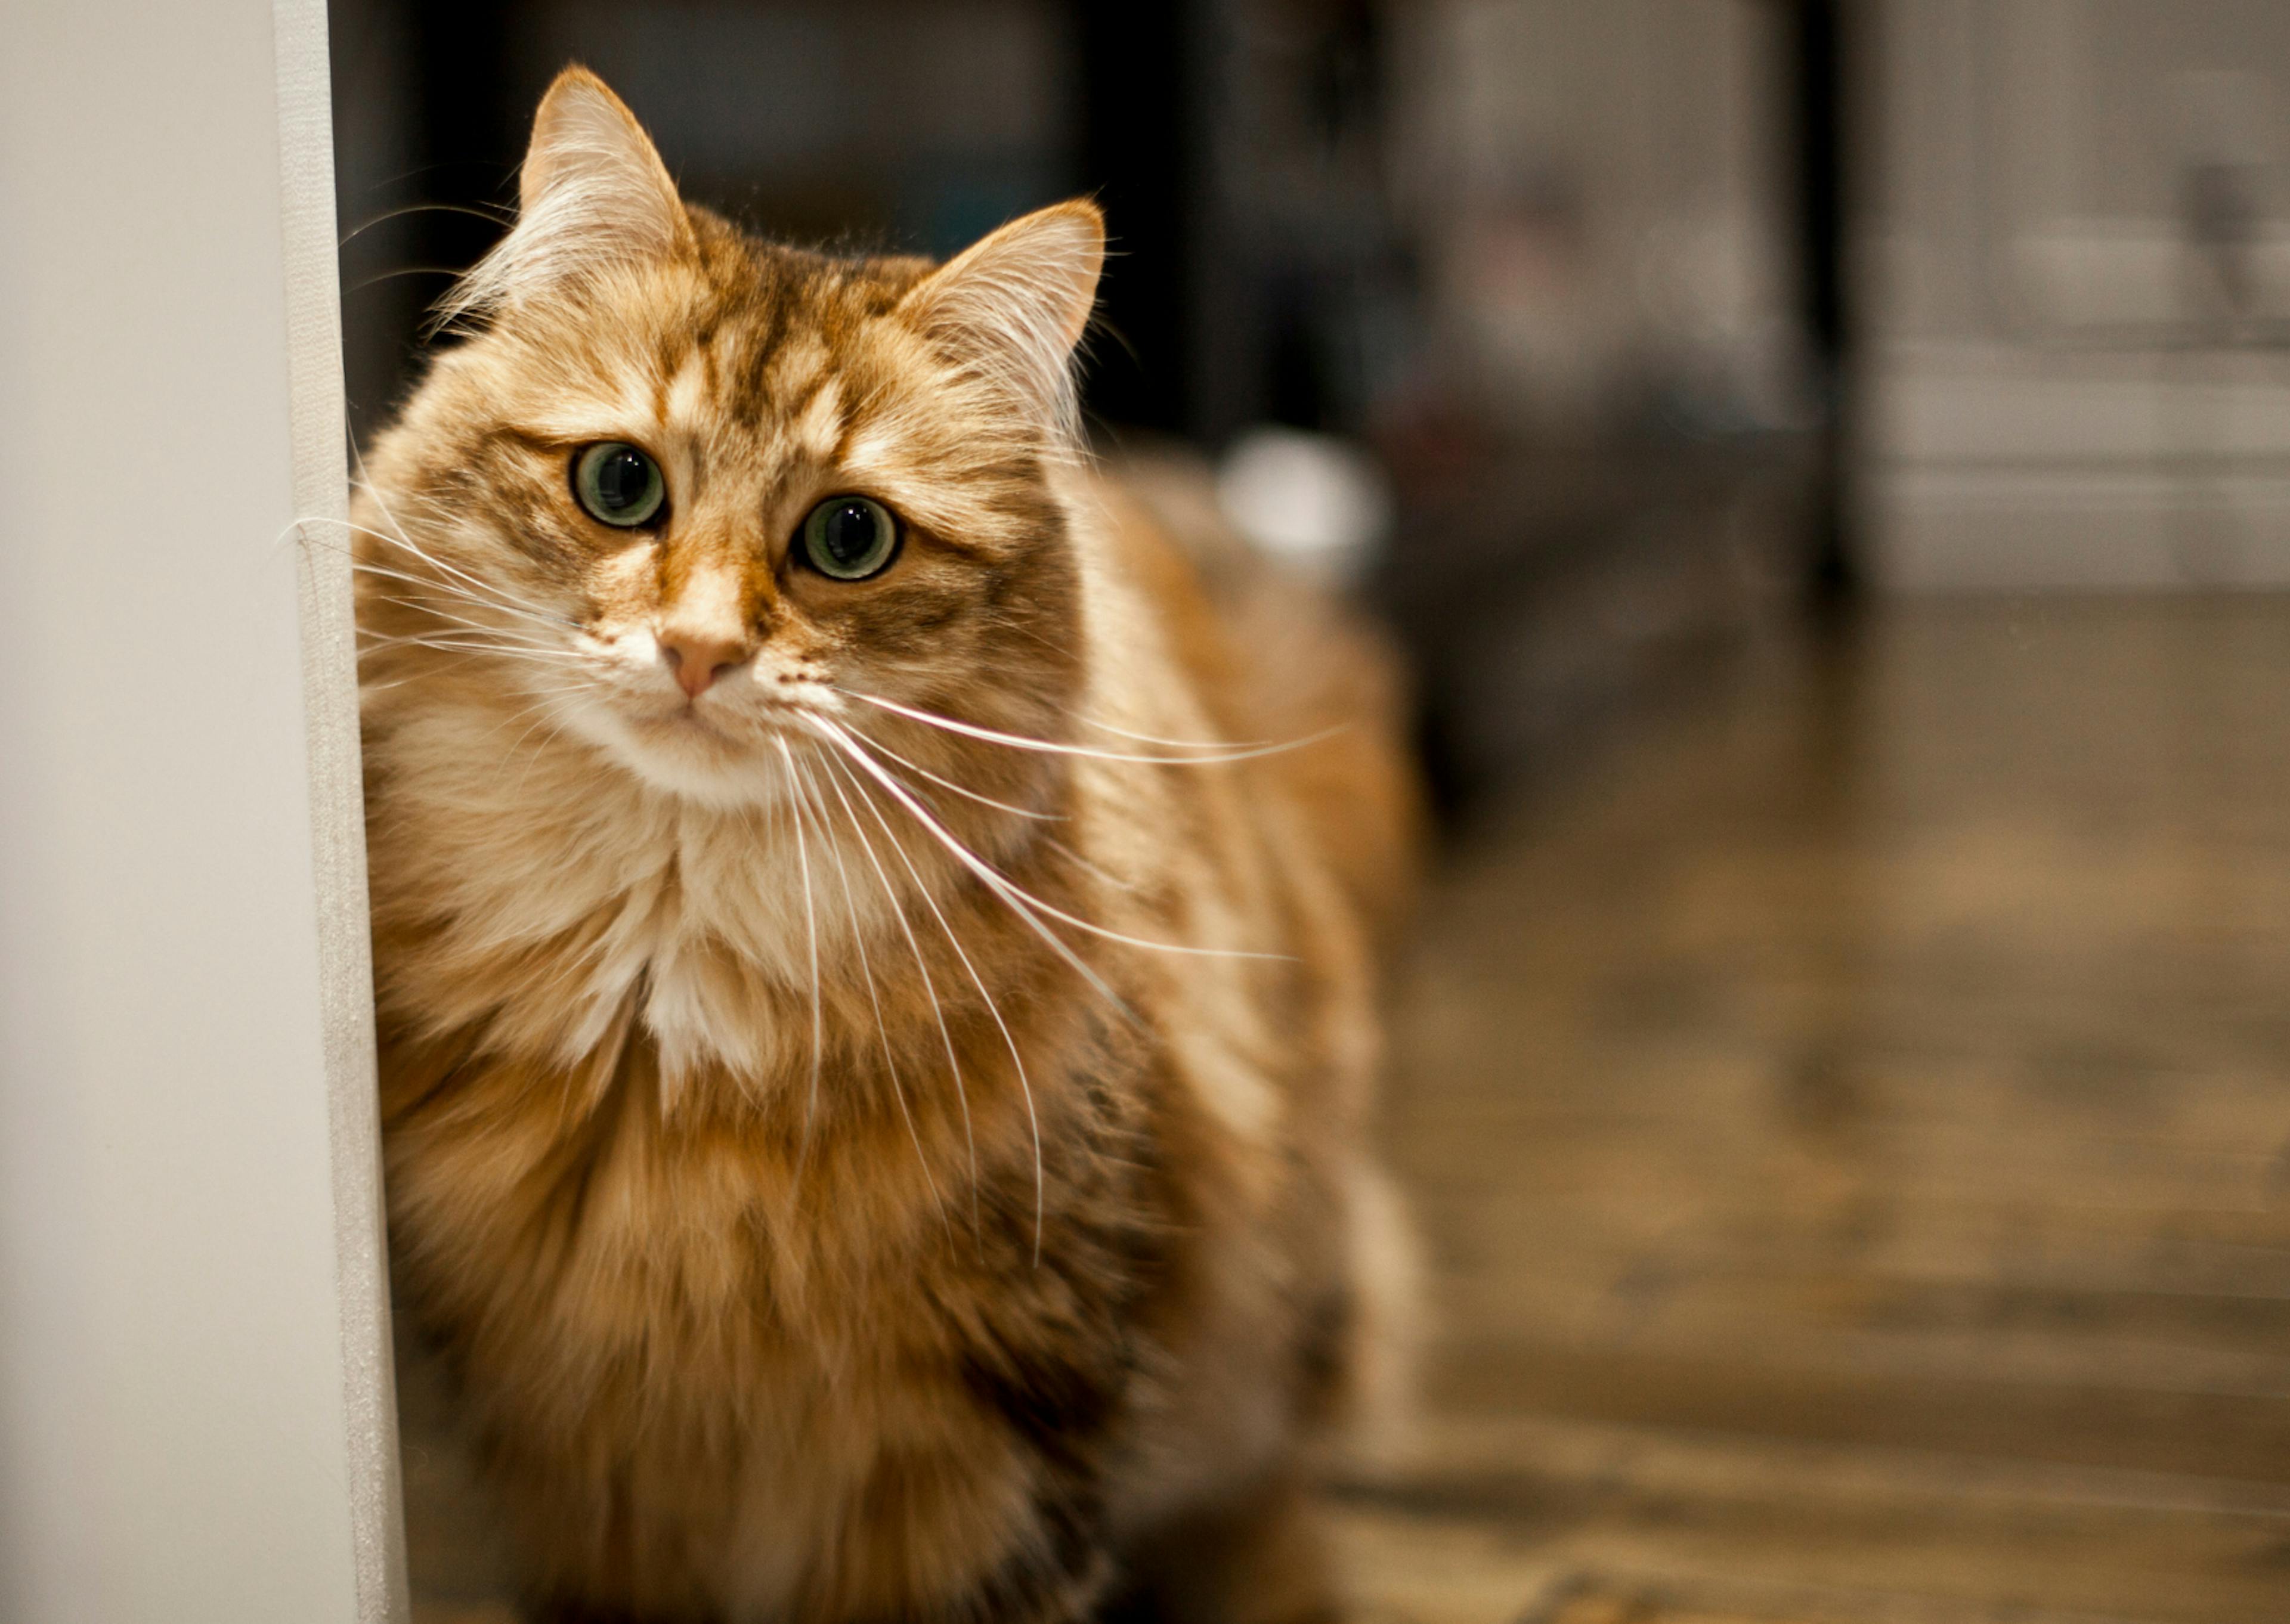
[[[1106,218],[1074,199],[1012,220],[923,277],[900,314],[1012,405],[1076,431],[1074,346],[1097,305]]]

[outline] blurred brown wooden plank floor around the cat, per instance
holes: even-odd
[[[1374,1619],[2290,1619],[2290,602],[1896,612],[1470,836]],[[424,1619],[506,1617],[408,1390]]]

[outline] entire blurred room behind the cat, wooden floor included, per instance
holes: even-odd
[[[685,190],[1095,195],[1108,456],[1401,641],[1395,1619],[2290,1617],[2290,7],[334,0],[353,428],[598,69]],[[492,1617],[408,1393],[417,1585]]]

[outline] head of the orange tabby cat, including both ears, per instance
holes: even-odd
[[[497,694],[712,804],[776,797],[820,717],[1056,726],[1101,259],[1085,202],[946,266],[760,243],[568,69],[515,227],[447,300],[469,337],[373,458],[369,685]]]

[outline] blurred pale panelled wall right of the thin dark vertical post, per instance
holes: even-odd
[[[1878,18],[1857,229],[1876,580],[2290,586],[2290,7]]]

